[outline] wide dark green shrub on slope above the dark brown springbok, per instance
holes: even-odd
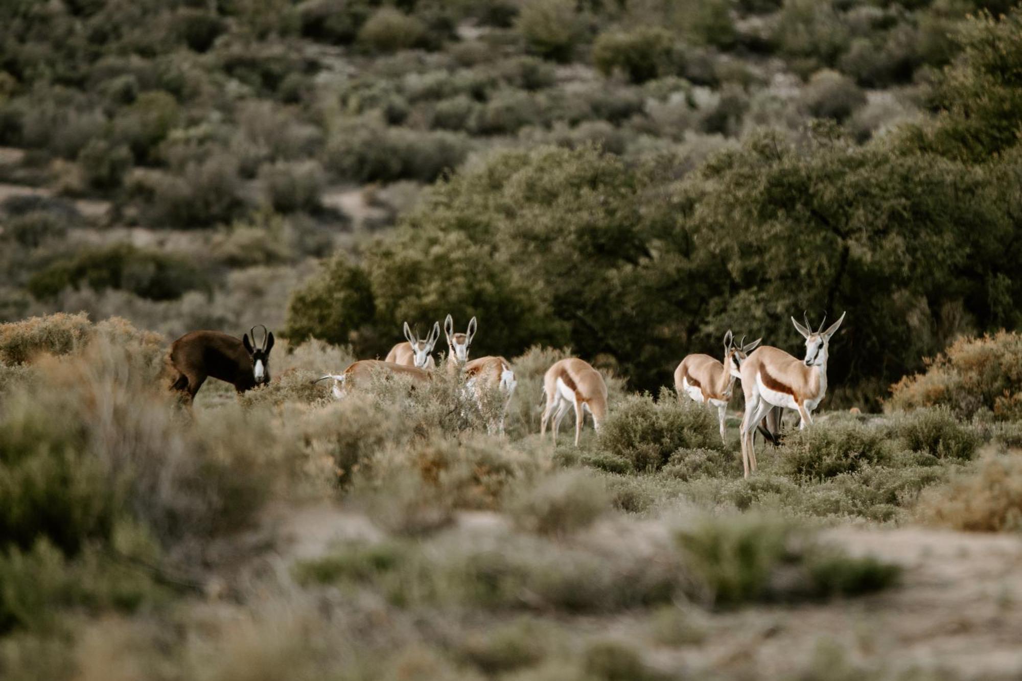
[[[186,291],[207,287],[198,269],[184,259],[130,243],[83,248],[36,272],[27,288],[37,299],[55,297],[65,288],[89,286],[130,290],[152,301],[171,301]]]

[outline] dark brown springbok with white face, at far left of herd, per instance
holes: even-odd
[[[261,325],[262,326],[262,325]],[[236,338],[220,331],[192,331],[173,344],[167,355],[172,372],[171,390],[195,399],[210,376],[227,381],[239,393],[270,382],[270,351],[273,333],[263,326],[263,345],[256,347],[256,329]]]

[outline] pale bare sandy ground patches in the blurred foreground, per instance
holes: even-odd
[[[329,505],[278,508],[275,515],[286,561],[322,555],[339,541],[382,537],[366,516]],[[458,520],[468,532],[505,523],[486,512],[463,513]],[[601,525],[606,527],[594,532],[614,531]],[[837,678],[841,670],[831,669],[835,665],[964,679],[1022,676],[1022,538],[920,528],[839,528],[824,536],[852,554],[901,565],[900,585],[848,600],[706,614],[696,618],[701,640],[678,646],[653,641],[648,618],[639,614],[577,619],[570,627],[582,635],[642,641],[651,664],[693,678],[782,678],[806,669],[818,676],[805,678]],[[827,657],[828,649],[839,656]]]

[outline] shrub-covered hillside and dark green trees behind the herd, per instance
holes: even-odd
[[[793,347],[789,314],[847,310],[831,372],[863,407],[1019,323],[1011,3],[0,12],[0,144],[26,151],[0,175],[44,194],[0,211],[8,319],[279,326],[339,248],[293,340],[383,354],[474,314],[487,351],[570,345],[653,390],[728,327]]]

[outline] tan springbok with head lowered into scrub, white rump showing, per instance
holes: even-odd
[[[541,438],[547,433],[547,422],[554,405],[557,405],[553,424],[554,444],[557,444],[557,430],[569,406],[575,409],[575,447],[578,446],[586,411],[593,414],[593,426],[600,429],[600,423],[607,414],[607,383],[589,362],[577,357],[556,362],[543,376],[543,392],[547,397],[547,407],[540,422]]]

